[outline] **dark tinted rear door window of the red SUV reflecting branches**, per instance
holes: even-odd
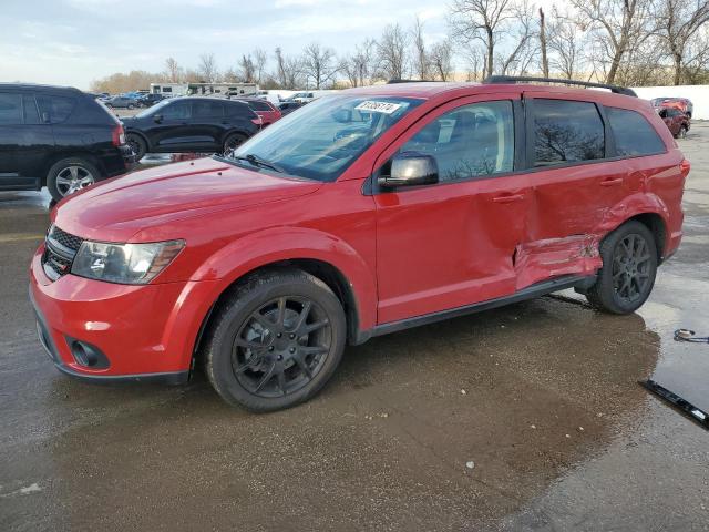
[[[603,121],[596,105],[565,100],[534,100],[533,109],[535,166],[604,157]]]

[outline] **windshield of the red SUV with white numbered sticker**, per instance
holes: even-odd
[[[242,144],[233,157],[268,162],[288,174],[335,181],[423,100],[331,95],[309,103]]]

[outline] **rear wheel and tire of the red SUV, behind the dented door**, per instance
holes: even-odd
[[[657,246],[641,223],[626,222],[600,244],[603,267],[586,298],[609,314],[631,314],[646,301],[657,274]]]

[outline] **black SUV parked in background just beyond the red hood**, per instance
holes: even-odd
[[[224,153],[261,127],[246,103],[199,96],[163,100],[121,120],[137,160],[146,153]]]

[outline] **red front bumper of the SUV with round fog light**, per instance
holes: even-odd
[[[195,339],[208,310],[210,282],[127,286],[64,275],[52,282],[32,259],[30,300],[40,341],[56,368],[93,381],[186,382]],[[106,364],[91,367],[75,342]]]

